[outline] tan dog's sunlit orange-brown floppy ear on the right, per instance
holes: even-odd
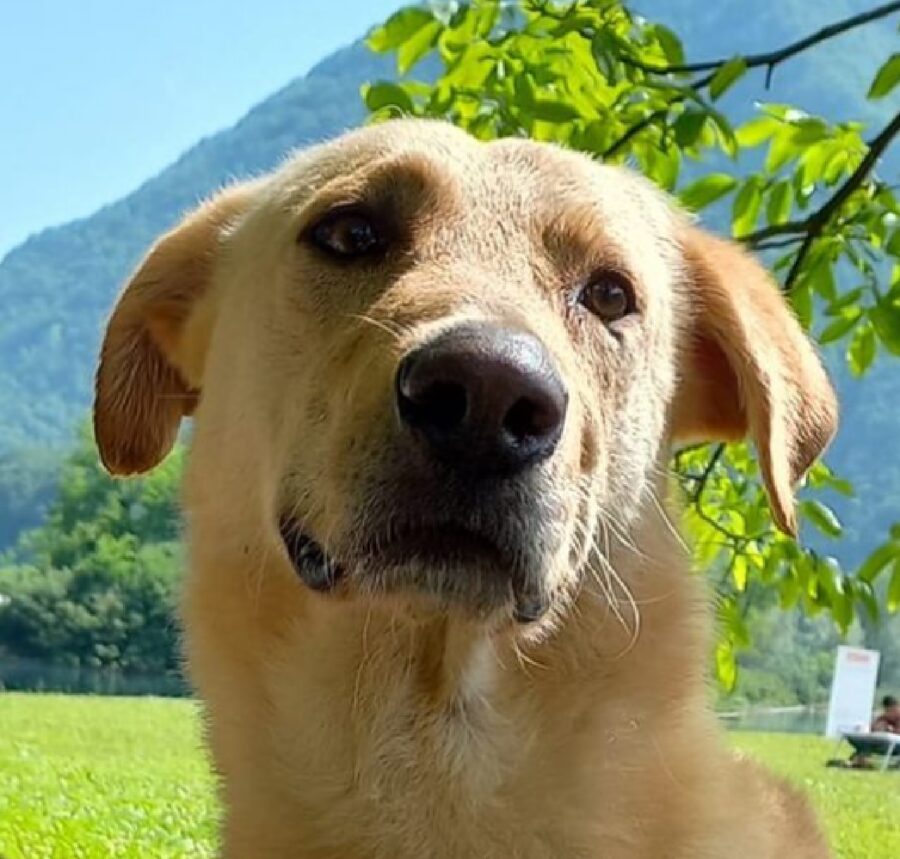
[[[691,315],[672,430],[676,440],[756,444],[775,522],[797,529],[793,488],[837,429],[828,376],[765,269],[737,245],[682,233]]]

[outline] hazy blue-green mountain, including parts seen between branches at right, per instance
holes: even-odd
[[[826,21],[824,13],[810,14],[807,0],[635,5],[682,34],[688,55],[701,59],[771,49],[859,11],[853,0],[834,0]],[[834,119],[858,118],[860,95],[895,47],[894,27],[881,21],[796,58],[776,70],[771,90],[762,74],[748,76],[728,98],[788,101]],[[0,491],[0,547],[39,516],[53,474],[47,449],[74,438],[86,415],[103,321],[148,244],[223,182],[264,172],[290,150],[357,125],[365,114],[360,85],[392,73],[392,59],[361,43],[338,51],[133,193],[33,236],[0,262],[0,482],[4,473],[15,475],[8,498]],[[863,118],[878,125],[892,109],[867,106]],[[831,460],[862,490],[845,509],[844,551],[858,556],[900,509],[900,414],[890,406],[900,402],[900,373],[886,359],[862,383],[839,381],[845,429]],[[881,454],[877,465],[874,450]]]

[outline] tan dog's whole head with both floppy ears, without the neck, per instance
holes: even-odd
[[[103,345],[103,461],[151,468],[195,407],[194,527],[216,511],[326,598],[521,622],[632,526],[673,439],[749,434],[790,531],[836,420],[763,269],[649,183],[409,120],[151,249]]]

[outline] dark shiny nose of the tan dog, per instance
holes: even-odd
[[[433,456],[478,474],[512,474],[549,457],[567,405],[540,340],[486,323],[445,331],[397,370],[401,421]]]

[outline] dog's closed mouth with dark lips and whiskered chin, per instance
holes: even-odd
[[[282,517],[279,530],[294,570],[315,591],[335,591],[354,580],[368,593],[415,590],[480,615],[505,611],[522,624],[539,621],[550,607],[550,595],[522,569],[515,553],[461,525],[386,529],[355,541],[340,559],[295,518]]]

